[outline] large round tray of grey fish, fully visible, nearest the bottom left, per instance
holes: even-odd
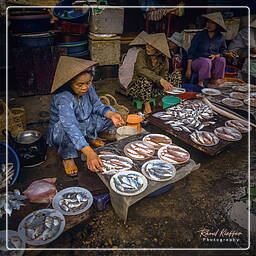
[[[48,244],[63,232],[64,216],[55,209],[41,209],[27,215],[19,224],[20,238],[30,245]]]

